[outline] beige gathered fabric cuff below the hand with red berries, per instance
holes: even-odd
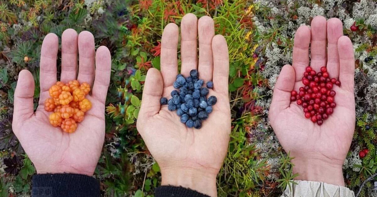
[[[355,197],[353,191],[339,185],[323,182],[296,180],[285,189],[282,197]]]

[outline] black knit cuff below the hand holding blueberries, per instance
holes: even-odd
[[[155,197],[209,197],[190,188],[176,186],[159,186],[155,190]]]

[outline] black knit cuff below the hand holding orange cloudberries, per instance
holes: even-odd
[[[99,197],[100,182],[82,174],[36,174],[32,197]]]

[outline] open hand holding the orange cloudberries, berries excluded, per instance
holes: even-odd
[[[57,81],[58,37],[48,34],[43,40],[40,59],[40,99],[33,111],[34,79],[28,70],[18,76],[14,93],[13,131],[25,152],[34,163],[38,174],[75,173],[92,176],[101,154],[105,135],[105,100],[110,81],[111,57],[107,47],[101,46],[95,54],[94,37],[83,31],[77,35],[67,29],[61,36],[61,81],[76,79],[77,50],[80,58],[77,80],[92,87],[86,98],[92,108],[78,123],[75,133],[64,133],[53,127],[44,110],[49,88]],[[94,69],[96,64],[96,69]],[[95,76],[95,79],[94,79]]]

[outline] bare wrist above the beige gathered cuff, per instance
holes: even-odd
[[[295,158],[292,160],[294,180],[307,180],[345,186],[342,165],[336,162],[324,162],[313,158]]]

